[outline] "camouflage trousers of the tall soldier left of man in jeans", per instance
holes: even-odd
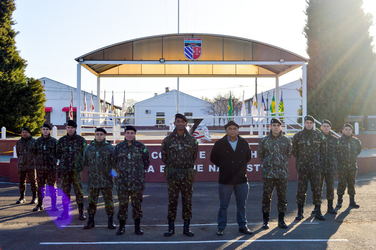
[[[168,179],[168,212],[167,219],[175,220],[179,202],[179,192],[182,192],[182,219],[192,219],[193,181],[188,179]]]

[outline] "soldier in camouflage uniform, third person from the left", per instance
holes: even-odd
[[[77,124],[73,120],[67,122],[67,135],[57,141],[56,156],[60,159],[58,171],[61,173],[61,188],[66,196],[63,196],[63,213],[57,220],[69,218],[69,204],[71,202],[71,184],[73,184],[78,204],[79,217],[81,221],[86,220],[84,213],[84,194],[82,192],[82,170],[84,166],[77,164],[80,154],[83,153],[87,143],[84,137],[77,135]]]

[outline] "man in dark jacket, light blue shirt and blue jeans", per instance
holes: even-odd
[[[235,194],[237,225],[239,232],[252,234],[247,227],[246,204],[249,184],[247,163],[252,154],[249,143],[238,135],[239,125],[229,121],[225,125],[226,136],[217,140],[211,149],[210,161],[219,168],[219,211],[217,235],[223,235],[227,226],[227,208]]]

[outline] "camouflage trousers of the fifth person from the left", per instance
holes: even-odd
[[[142,219],[142,195],[143,190],[118,190],[118,199],[119,199],[119,211],[118,211],[118,220],[128,219],[128,203],[131,199],[132,203],[132,218],[133,219]]]

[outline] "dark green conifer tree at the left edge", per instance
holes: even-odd
[[[25,76],[26,61],[19,55],[12,29],[14,0],[0,1],[0,127],[20,133],[22,127],[38,131],[46,102],[42,83]]]

